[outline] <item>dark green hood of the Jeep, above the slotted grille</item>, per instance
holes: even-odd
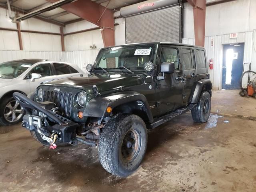
[[[99,92],[104,92],[143,83],[144,79],[136,74],[84,74],[83,77],[80,75],[73,76],[51,81],[44,85],[75,87],[83,89],[87,94],[90,94],[93,92],[93,85],[97,86]]]

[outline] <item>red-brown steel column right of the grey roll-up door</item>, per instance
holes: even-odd
[[[195,43],[204,47],[206,0],[187,0],[193,6]]]

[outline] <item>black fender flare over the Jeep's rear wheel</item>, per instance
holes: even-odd
[[[197,103],[200,95],[202,93],[202,89],[204,88],[204,86],[206,86],[206,91],[208,91],[210,93],[210,96],[212,97],[212,83],[210,79],[200,79],[198,80],[198,82],[196,83],[196,88],[194,90],[194,94],[191,100],[191,103]]]

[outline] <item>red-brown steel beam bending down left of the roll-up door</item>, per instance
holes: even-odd
[[[54,3],[58,0],[47,1]],[[91,0],[77,0],[65,4],[61,8],[102,28],[101,34],[105,47],[115,45],[114,13],[112,10]]]

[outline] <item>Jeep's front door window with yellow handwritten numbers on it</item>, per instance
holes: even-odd
[[[178,50],[176,48],[163,48],[161,52],[161,63],[174,62],[175,70],[180,70]]]

